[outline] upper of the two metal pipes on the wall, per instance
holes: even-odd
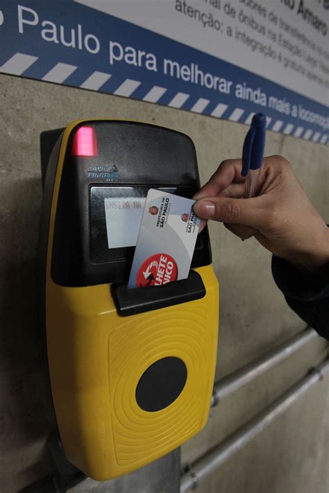
[[[228,377],[219,380],[214,384],[210,406],[217,406],[223,397],[226,397],[249,381],[255,379],[255,377],[258,377],[261,373],[280,363],[280,361],[287,358],[287,356],[317,337],[317,332],[308,327],[303,330],[301,334],[297,334],[297,336],[289,339],[287,343],[273,349],[253,363],[240,368],[236,372],[228,375]]]

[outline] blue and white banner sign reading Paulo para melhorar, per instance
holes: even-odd
[[[0,71],[328,144],[329,0],[0,0]]]

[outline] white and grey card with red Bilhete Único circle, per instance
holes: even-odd
[[[160,286],[188,277],[200,226],[194,202],[149,190],[128,288]]]

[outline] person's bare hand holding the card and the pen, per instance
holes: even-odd
[[[254,198],[244,198],[241,170],[241,159],[220,164],[194,195],[196,216],[224,223],[241,239],[255,236],[277,257],[308,273],[319,273],[329,263],[329,228],[307,198],[292,165],[282,156],[265,157]]]

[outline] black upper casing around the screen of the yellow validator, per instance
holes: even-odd
[[[74,135],[81,126],[96,132],[96,155],[72,154]],[[61,132],[41,135],[43,177],[54,139]],[[50,160],[49,166],[57,163]],[[49,171],[55,175],[55,170],[48,170],[47,176]],[[60,180],[51,261],[53,281],[62,286],[126,281],[135,247],[108,248],[103,196],[146,196],[150,188],[187,198],[199,190],[196,151],[187,135],[132,121],[79,123],[69,137]],[[210,263],[205,228],[196,243],[192,268]]]

